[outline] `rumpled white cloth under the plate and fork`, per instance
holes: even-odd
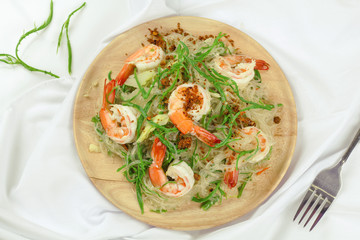
[[[0,0],[0,52],[48,16],[49,0]],[[70,22],[73,74],[67,73],[60,27],[82,1],[54,2],[50,26],[26,39],[20,56],[61,76],[0,63],[0,239],[358,239],[360,147],[343,167],[343,187],[318,226],[292,222],[323,168],[347,148],[360,126],[360,2],[87,1]],[[117,34],[171,15],[212,18],[262,44],[283,69],[298,113],[295,154],[283,181],[257,209],[202,231],[151,227],[122,213],[92,185],[72,132],[73,101],[89,64]]]

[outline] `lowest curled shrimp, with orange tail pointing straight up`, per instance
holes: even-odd
[[[170,197],[181,197],[188,193],[194,186],[194,172],[185,162],[178,162],[169,166],[166,173],[162,168],[165,158],[166,146],[155,138],[151,158],[152,164],[149,167],[149,177],[154,187]],[[174,179],[169,181],[168,177]]]

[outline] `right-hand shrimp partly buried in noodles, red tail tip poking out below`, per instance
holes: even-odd
[[[255,154],[247,160],[250,163],[257,163],[263,160],[270,151],[270,145],[268,144],[267,136],[261,132],[257,127],[246,127],[241,129],[241,134],[253,137],[252,144],[258,146],[255,150]],[[230,157],[230,161],[235,160],[234,156]],[[239,171],[232,168],[227,169],[224,175],[224,183],[231,189],[236,186],[238,182]]]

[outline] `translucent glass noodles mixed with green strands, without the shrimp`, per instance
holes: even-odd
[[[246,183],[256,173],[267,169],[272,149],[261,161],[253,163],[251,159],[260,151],[260,137],[255,136],[254,145],[254,137],[241,134],[241,129],[248,124],[255,125],[267,136],[267,145],[273,146],[274,117],[281,104],[269,102],[260,71],[255,70],[255,77],[245,88],[239,89],[234,80],[215,70],[216,57],[238,51],[226,34],[200,38],[172,31],[157,37],[164,43],[166,61],[151,70],[152,76],[145,84],[140,81],[142,73],[135,68],[125,84],[114,89],[115,103],[138,111],[136,140],[125,145],[115,143],[105,133],[99,116],[95,116],[92,121],[102,148],[123,159],[119,174],[124,174],[134,184],[142,212],[145,204],[151,211],[162,213],[191,202],[208,210],[214,204],[221,204],[225,198],[241,197],[246,191]],[[111,72],[108,77],[111,79]],[[211,110],[196,124],[221,140],[214,147],[190,134],[181,136],[170,120],[163,125],[154,120],[155,116],[168,114],[169,96],[183,83],[196,83],[210,93]],[[144,129],[151,131],[139,141]],[[151,149],[156,137],[167,147],[163,163],[165,172],[170,164],[178,162],[187,163],[194,172],[195,184],[182,197],[166,196],[150,181],[148,168],[153,161]],[[179,147],[182,137],[191,139],[190,147]],[[224,183],[225,172],[229,169],[239,171],[239,180],[232,189]]]

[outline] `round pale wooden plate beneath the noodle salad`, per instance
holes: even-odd
[[[270,89],[270,99],[282,103],[281,123],[276,130],[276,145],[271,157],[271,168],[246,185],[240,199],[227,199],[221,205],[213,206],[208,211],[200,209],[198,203],[191,203],[185,208],[167,213],[150,212],[145,206],[141,214],[133,185],[116,170],[122,166],[120,158],[108,156],[106,153],[91,153],[89,145],[97,143],[91,118],[101,108],[103,83],[110,70],[114,76],[120,71],[125,54],[131,54],[146,44],[145,35],[148,28],[157,27],[160,32],[175,29],[177,23],[195,36],[217,35],[227,33],[235,41],[243,53],[270,64],[268,71],[262,71],[263,83]],[[95,58],[87,70],[78,89],[74,104],[74,135],[80,160],[90,180],[96,188],[115,206],[148,224],[177,229],[196,230],[218,226],[234,220],[262,203],[276,188],[284,176],[294,151],[297,119],[296,108],[289,84],[280,67],[270,54],[254,39],[227,24],[199,17],[169,17],[156,19],[136,26],[114,39]]]

